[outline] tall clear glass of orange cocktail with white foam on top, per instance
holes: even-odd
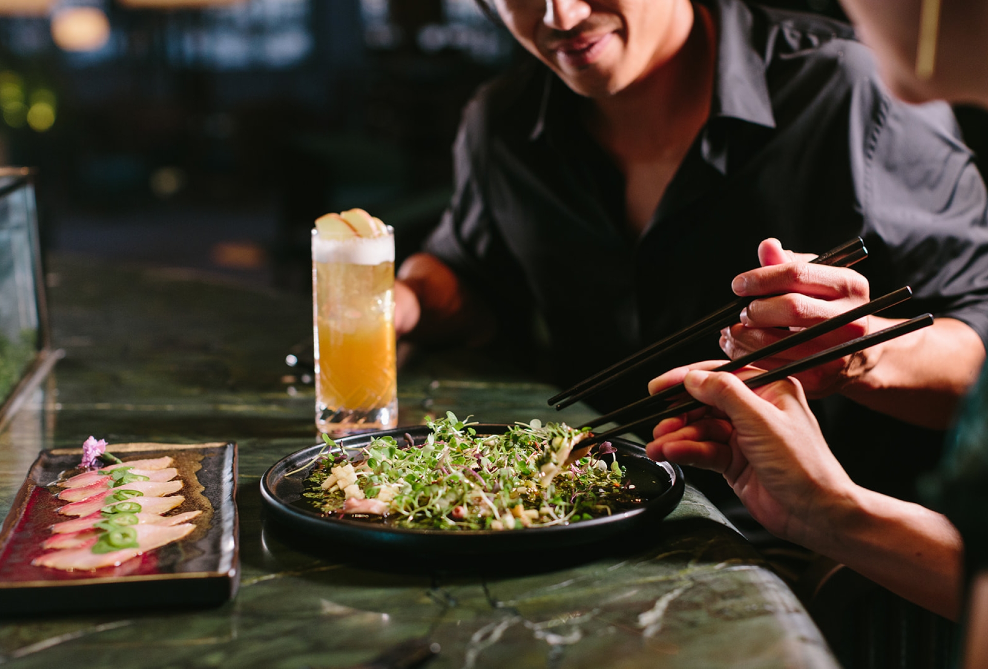
[[[324,238],[312,230],[315,422],[342,436],[397,423],[394,231]]]

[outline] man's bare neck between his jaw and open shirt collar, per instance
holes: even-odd
[[[617,94],[591,102],[587,123],[618,156],[663,154],[688,132],[692,142],[709,116],[716,29],[700,5],[683,2],[677,14],[651,71]]]

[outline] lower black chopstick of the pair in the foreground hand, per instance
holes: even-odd
[[[820,351],[812,356],[807,356],[800,360],[789,363],[788,365],[783,365],[780,368],[772,370],[771,372],[766,372],[760,374],[759,376],[752,376],[747,379],[744,384],[750,388],[757,388],[773,381],[777,381],[786,376],[795,376],[797,374],[802,374],[806,370],[817,367],[818,365],[824,365],[826,363],[835,361],[844,356],[850,355],[852,353],[857,353],[870,346],[875,346],[881,344],[882,342],[887,342],[889,339],[895,339],[904,334],[914,332],[921,328],[933,325],[933,315],[929,313],[924,313],[922,316],[916,316],[910,320],[904,321],[897,325],[892,325],[891,327],[886,327],[884,330],[879,330],[878,332],[873,332],[869,335],[864,335],[864,337],[858,337],[857,339],[852,339],[851,341],[845,342],[838,346],[833,346],[825,351]],[[666,418],[671,418],[672,416],[679,416],[694,409],[699,409],[703,406],[703,403],[697,401],[696,399],[690,399],[685,402],[671,406],[664,411],[652,414],[651,416],[646,416],[644,418],[639,418],[626,425],[621,425],[620,427],[614,428],[613,430],[608,430],[607,432],[602,432],[599,435],[593,435],[582,442],[580,446],[588,446],[590,444],[597,444],[608,440],[612,437],[617,437],[626,432],[630,432],[636,427],[646,424],[655,425],[659,421],[665,420]]]

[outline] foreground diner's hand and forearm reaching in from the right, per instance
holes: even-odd
[[[654,394],[683,381],[707,404],[659,423],[649,458],[722,472],[772,534],[956,620],[962,545],[949,521],[855,485],[830,453],[799,381],[751,390],[737,376],[707,372],[720,364],[679,368],[648,384]],[[757,372],[745,368],[739,376]]]

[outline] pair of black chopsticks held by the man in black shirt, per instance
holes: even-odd
[[[857,262],[867,257],[867,249],[864,247],[864,240],[855,237],[846,241],[840,246],[832,248],[823,255],[817,256],[810,263],[816,265],[829,265],[831,267],[851,267]],[[693,325],[674,332],[668,337],[664,337],[654,344],[628,356],[606,370],[602,370],[593,376],[589,376],[575,385],[566,388],[562,392],[556,393],[548,398],[548,403],[556,404],[556,409],[562,409],[570,404],[574,404],[587,395],[600,390],[601,388],[614,383],[620,376],[637,370],[642,365],[653,359],[666,355],[680,347],[691,344],[711,332],[718,332],[721,328],[736,323],[741,309],[755,299],[760,299],[769,295],[752,297],[738,297],[729,304],[722,306],[713,313],[700,318]],[[565,398],[565,399],[564,399]],[[562,400],[562,401],[559,401]]]

